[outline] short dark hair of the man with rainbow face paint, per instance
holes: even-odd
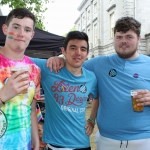
[[[13,18],[23,19],[25,17],[31,18],[33,20],[33,29],[35,28],[36,19],[33,13],[27,8],[16,8],[13,9],[7,16],[5,24],[9,26],[9,23]]]

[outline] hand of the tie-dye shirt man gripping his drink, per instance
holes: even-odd
[[[21,91],[27,89],[29,86],[28,77],[29,74],[24,70],[13,73],[0,90],[0,96],[3,101],[6,102],[7,100],[19,94]]]

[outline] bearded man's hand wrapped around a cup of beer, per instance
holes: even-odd
[[[137,106],[150,106],[150,91],[139,90],[134,98],[136,98],[136,101],[138,102]]]

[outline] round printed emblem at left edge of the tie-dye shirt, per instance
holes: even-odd
[[[0,138],[5,134],[7,130],[7,118],[3,111],[0,109]]]

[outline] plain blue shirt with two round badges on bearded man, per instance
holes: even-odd
[[[84,63],[98,81],[97,122],[101,135],[116,140],[150,138],[150,107],[132,109],[130,90],[150,90],[150,57],[125,60],[117,54],[98,56]]]

